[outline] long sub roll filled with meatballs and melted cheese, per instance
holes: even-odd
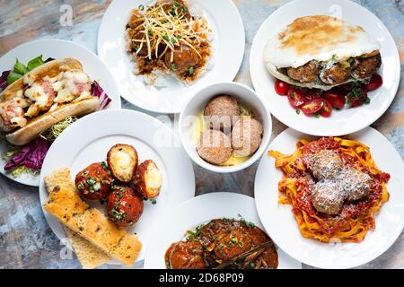
[[[23,145],[69,116],[97,109],[92,81],[75,58],[52,60],[13,82],[0,94],[0,131]]]

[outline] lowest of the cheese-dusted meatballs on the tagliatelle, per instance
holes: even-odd
[[[338,214],[345,195],[336,181],[323,180],[312,186],[312,205],[320,213]]]

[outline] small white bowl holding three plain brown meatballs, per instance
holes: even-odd
[[[210,164],[200,158],[197,152],[196,143],[193,141],[193,126],[198,115],[204,111],[209,100],[215,98],[215,96],[225,94],[234,97],[239,103],[251,109],[257,117],[257,120],[264,127],[264,135],[262,136],[262,142],[259,149],[250,157],[248,161],[242,162],[242,164],[232,167],[221,167],[214,164]],[[262,153],[266,151],[269,144],[269,140],[272,134],[272,119],[266,106],[255,91],[241,83],[215,83],[206,86],[202,90],[198,91],[189,100],[185,109],[180,114],[180,139],[185,151],[189,154],[192,161],[195,161],[199,166],[206,170],[211,170],[220,173],[229,173],[248,168],[255,161],[258,161]]]

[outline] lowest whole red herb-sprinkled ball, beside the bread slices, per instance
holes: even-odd
[[[136,223],[143,213],[143,200],[130,187],[115,186],[108,196],[107,213],[120,227]]]

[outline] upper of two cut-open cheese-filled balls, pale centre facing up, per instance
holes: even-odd
[[[130,182],[137,167],[136,149],[128,144],[115,144],[107,155],[108,165],[114,178],[121,182]]]

